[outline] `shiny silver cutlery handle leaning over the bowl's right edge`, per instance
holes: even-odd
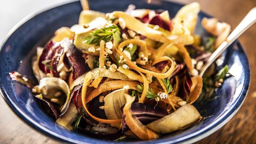
[[[210,56],[206,64],[202,67],[199,76],[202,78],[207,68],[221,55],[224,50],[230,46],[243,32],[245,32],[252,24],[256,22],[256,7],[252,8],[237,27],[230,33],[227,40],[224,41]]]

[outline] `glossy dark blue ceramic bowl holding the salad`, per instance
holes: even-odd
[[[137,8],[165,9],[169,11],[171,17],[174,17],[178,9],[182,7],[181,4],[159,0],[152,0],[151,4],[148,4],[147,0],[91,0],[91,9],[102,12],[122,11],[129,4],[135,4]],[[70,27],[78,23],[81,10],[79,1],[71,2],[33,15],[17,24],[1,46],[0,91],[9,107],[22,120],[48,136],[73,143],[114,143],[91,138],[59,126],[39,107],[29,89],[12,82],[8,75],[8,72],[16,70],[35,79],[31,68],[31,58],[35,55],[35,48],[44,46],[58,28]],[[196,33],[206,35],[200,26],[203,17],[210,16],[203,12],[199,13]],[[195,103],[201,115],[206,117],[204,120],[193,127],[171,133],[157,140],[137,143],[192,143],[226,124],[245,100],[250,85],[250,68],[245,51],[238,41],[226,50],[219,62],[220,67],[228,65],[234,76],[224,81],[223,85],[213,93],[211,100],[201,105]]]

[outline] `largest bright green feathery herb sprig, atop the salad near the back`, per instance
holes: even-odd
[[[109,42],[114,39],[114,42],[118,43],[121,41],[120,35],[121,33],[119,28],[116,25],[112,25],[106,26],[103,29],[97,29],[89,33],[89,35],[83,38],[83,41],[87,44],[96,44],[96,46],[98,46],[102,40]]]

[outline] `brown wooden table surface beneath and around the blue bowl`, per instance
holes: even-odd
[[[184,4],[198,1],[203,11],[236,27],[246,13],[256,6],[256,0],[175,0]],[[256,143],[256,24],[249,28],[239,41],[245,47],[251,68],[249,93],[237,114],[221,129],[198,141],[199,144]],[[57,140],[38,133],[19,120],[0,98],[0,143],[56,144]]]

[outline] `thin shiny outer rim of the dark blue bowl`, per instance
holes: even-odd
[[[19,29],[20,26],[22,26],[24,23],[26,23],[27,21],[29,21],[30,19],[32,19],[33,17],[39,15],[40,13],[43,13],[45,11],[48,11],[50,9],[54,9],[56,7],[59,6],[63,6],[66,4],[70,4],[73,2],[78,2],[79,0],[70,0],[68,2],[63,2],[60,4],[56,4],[54,6],[50,6],[47,7],[45,9],[41,9],[39,11],[35,11],[33,13],[30,13],[29,15],[27,15],[26,17],[22,18],[22,20],[20,20],[17,24],[15,24],[15,26],[13,26],[13,28],[11,28],[11,30],[7,33],[7,36],[4,38],[4,40],[2,41],[1,45],[0,45],[0,52],[2,52],[2,48],[4,46],[4,44],[6,43],[6,41],[9,39],[9,37],[17,30]],[[184,6],[184,4],[178,3],[178,2],[173,2],[170,0],[161,0],[161,1],[165,1],[165,2],[169,2],[169,3],[173,3],[173,4],[178,4],[180,6]],[[211,17],[211,15],[208,15],[207,13],[205,13],[204,11],[200,11],[200,13]],[[242,52],[245,55],[245,59],[243,59],[243,61],[245,62],[244,67],[248,68],[248,71],[245,72],[245,79],[244,79],[244,85],[243,85],[243,89],[241,90],[240,94],[239,94],[239,99],[236,101],[236,103],[234,103],[233,107],[231,107],[228,111],[226,111],[226,113],[223,114],[223,116],[217,118],[215,120],[215,122],[213,122],[212,124],[204,127],[203,129],[200,129],[199,131],[195,132],[195,133],[191,133],[189,135],[187,135],[186,137],[181,137],[175,140],[168,140],[168,138],[164,138],[164,139],[157,139],[157,140],[150,140],[150,141],[145,141],[145,143],[193,143],[193,142],[197,142],[198,140],[201,140],[209,135],[211,135],[212,133],[214,133],[215,131],[217,131],[218,129],[220,129],[222,126],[224,126],[224,124],[226,124],[235,114],[236,112],[239,110],[239,108],[241,107],[242,103],[244,102],[249,87],[250,87],[250,77],[251,77],[251,72],[250,72],[250,65],[249,65],[249,61],[248,61],[248,57],[247,54],[245,52],[245,49],[243,48],[243,46],[241,45],[241,43],[236,40],[236,44],[238,47],[241,48]],[[7,103],[8,107],[15,113],[15,115],[21,119],[23,122],[25,122],[28,126],[32,127],[33,129],[35,129],[36,131],[39,131],[40,133],[43,133],[46,136],[50,136],[52,138],[55,138],[57,140],[60,141],[65,141],[65,142],[72,142],[72,143],[81,143],[81,141],[78,140],[74,140],[71,138],[67,138],[67,137],[63,137],[62,135],[59,135],[58,133],[55,133],[54,131],[51,131],[43,126],[41,126],[39,123],[35,122],[34,120],[32,120],[29,116],[27,116],[25,113],[23,113],[21,111],[21,109],[19,107],[17,107],[17,105],[15,105],[12,100],[9,98],[8,94],[2,89],[0,89],[0,95],[2,96],[2,98],[4,99],[4,101]],[[234,109],[235,107],[235,109]],[[105,143],[113,143],[113,141],[106,141],[106,140],[100,140],[100,139],[96,139],[96,138],[91,138],[91,137],[87,137],[88,139],[91,139],[92,141],[97,141],[97,142],[105,142]],[[82,143],[87,143],[87,142],[82,142]],[[128,142],[119,142],[119,143],[128,143]],[[143,142],[140,142],[143,143]]]

